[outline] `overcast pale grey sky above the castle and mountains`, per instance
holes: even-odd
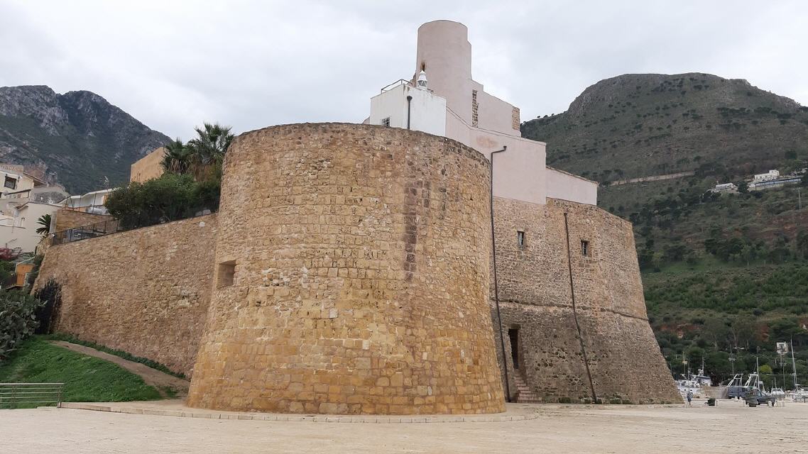
[[[434,19],[469,27],[473,78],[522,120],[625,73],[745,78],[808,105],[802,0],[0,0],[0,86],[90,90],[183,139],[203,121],[360,122],[381,86],[413,74]]]

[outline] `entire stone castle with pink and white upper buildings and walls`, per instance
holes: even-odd
[[[189,406],[680,401],[631,225],[519,126],[465,26],[426,23],[365,124],[246,132],[218,213],[51,246],[36,286],[61,284],[57,330],[191,375]]]

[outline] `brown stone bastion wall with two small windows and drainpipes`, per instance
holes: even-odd
[[[511,394],[519,374],[543,401],[681,401],[647,319],[628,221],[586,204],[498,197],[494,223]],[[499,329],[493,293],[491,305]]]

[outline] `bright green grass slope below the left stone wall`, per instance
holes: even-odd
[[[0,364],[0,383],[64,383],[63,401],[151,401],[160,398],[153,386],[116,364],[29,338]]]

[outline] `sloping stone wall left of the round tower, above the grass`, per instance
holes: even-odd
[[[212,214],[51,246],[35,288],[61,285],[54,330],[190,376],[208,317],[216,232]]]

